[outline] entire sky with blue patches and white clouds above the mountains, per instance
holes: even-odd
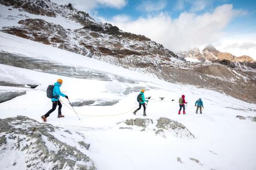
[[[256,59],[256,0],[52,0],[145,35],[174,52],[214,44]],[[249,44],[246,46],[246,44]]]

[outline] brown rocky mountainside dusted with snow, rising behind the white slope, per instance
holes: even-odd
[[[188,63],[183,56],[174,54],[163,45],[142,35],[123,32],[109,23],[97,22],[71,4],[58,6],[50,0],[5,0],[0,4],[3,9],[0,19],[8,21],[8,24],[3,22],[1,25],[2,32],[143,72],[167,82],[214,89],[256,102],[247,90],[256,91],[253,63],[250,66],[222,60]],[[8,52],[2,51],[1,55],[4,56],[2,64],[15,65],[9,61],[12,55]],[[195,55],[200,57],[200,52],[196,51]],[[14,56],[21,61],[26,57]],[[20,67],[27,66],[20,64]],[[38,70],[38,65],[36,67]]]

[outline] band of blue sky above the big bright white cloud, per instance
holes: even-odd
[[[111,8],[105,6],[98,6],[94,10],[97,11],[98,15],[103,16],[107,20],[111,20],[112,17],[116,15],[125,14],[130,16],[131,19],[136,20],[139,17],[146,17],[148,14],[156,14],[158,12],[164,11],[167,12],[172,18],[177,18],[182,12],[194,12],[197,14],[203,14],[206,12],[212,12],[218,6],[224,4],[232,4],[234,9],[244,10],[247,12],[246,15],[234,18],[229,25],[226,27],[226,31],[232,32],[255,32],[256,31],[256,1],[228,1],[228,0],[219,0],[219,1],[199,1],[201,2],[201,8],[195,9],[196,3],[190,3],[196,1],[126,1],[126,5],[122,8]],[[147,4],[163,4],[163,8],[155,8],[155,10],[147,11],[143,9],[143,5]],[[199,3],[200,4],[200,3]],[[145,7],[144,6],[144,7]],[[197,5],[199,6],[199,5]]]

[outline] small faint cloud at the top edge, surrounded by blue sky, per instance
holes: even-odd
[[[147,12],[151,12],[151,11],[160,11],[165,9],[167,5],[167,2],[165,0],[161,0],[161,1],[144,1],[143,3],[141,3],[138,7],[137,10],[140,11],[147,11]]]

